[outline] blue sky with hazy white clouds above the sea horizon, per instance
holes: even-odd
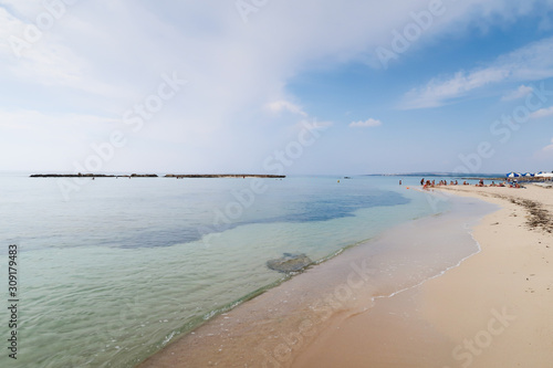
[[[0,0],[0,170],[553,170],[553,0]]]

